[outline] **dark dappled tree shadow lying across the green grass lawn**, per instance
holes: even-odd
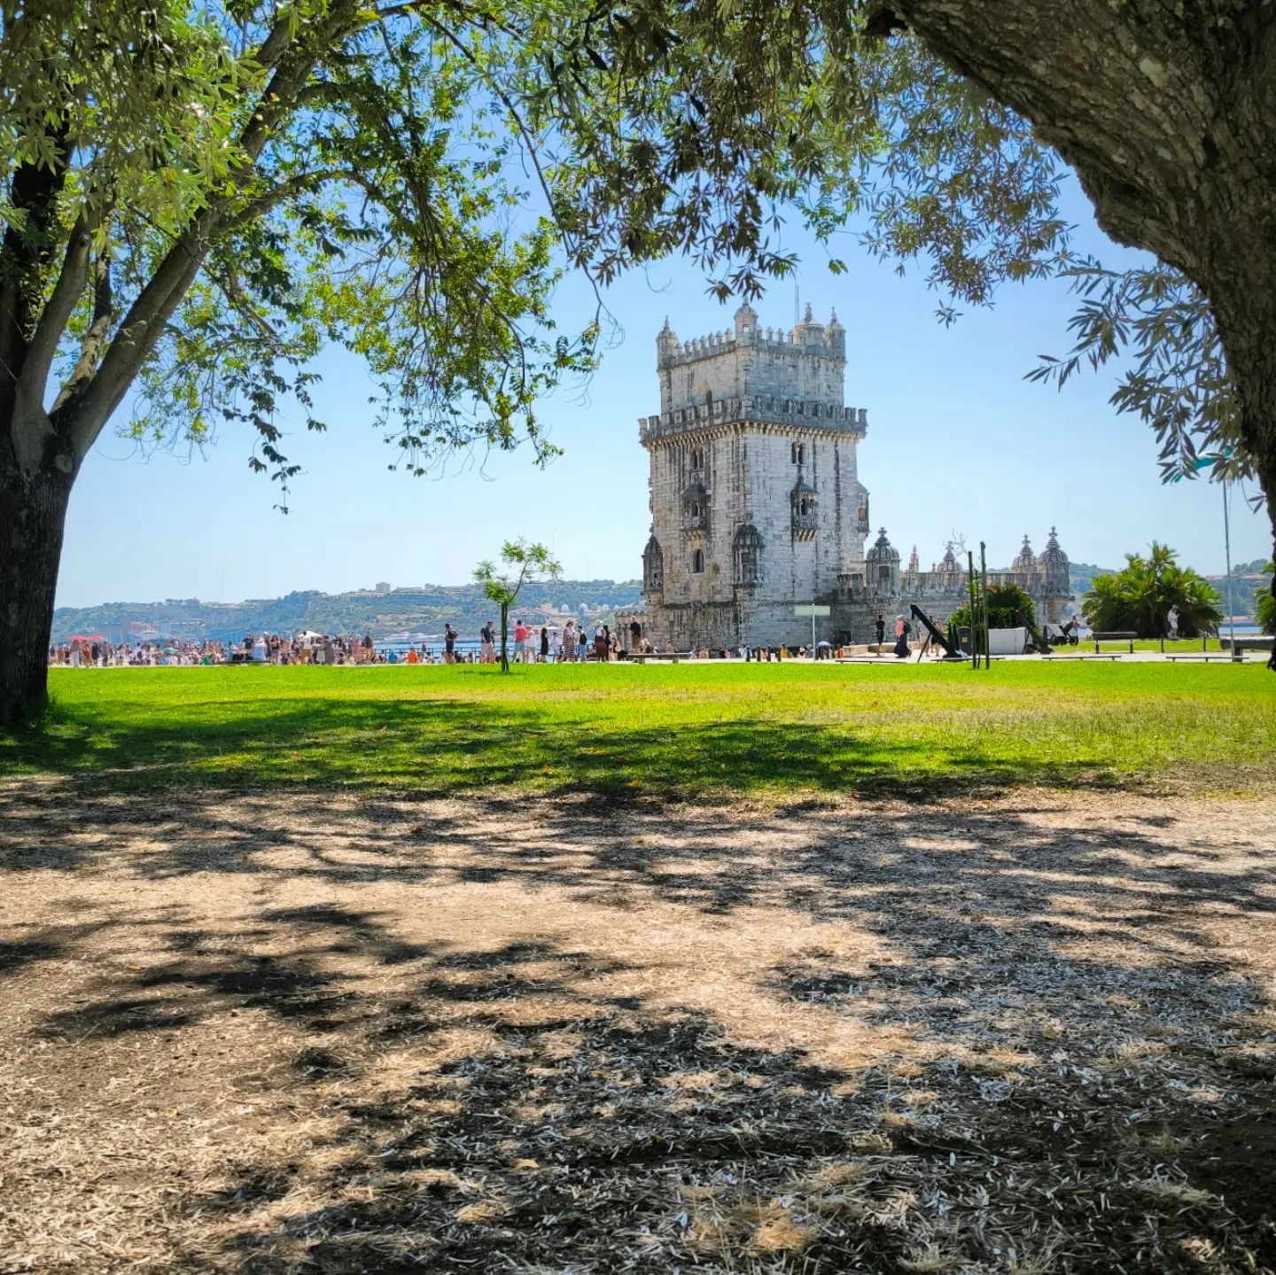
[[[1090,756],[1081,744],[1063,759],[1032,749],[1007,759],[974,736],[917,743],[852,719],[732,719],[675,731],[642,721],[604,729],[568,710],[260,697],[166,706],[167,716],[157,720],[153,706],[120,705],[108,722],[64,713],[56,729],[0,740],[0,775],[64,775],[98,793],[202,786],[443,796],[532,789],[619,803],[792,789],[930,799],[1011,782],[1131,782],[1113,758]]]

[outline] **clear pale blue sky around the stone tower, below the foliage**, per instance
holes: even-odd
[[[1065,211],[1079,249],[1134,260],[1101,235],[1074,188]],[[1160,484],[1151,431],[1108,406],[1113,374],[1082,375],[1062,393],[1022,379],[1039,354],[1068,345],[1074,299],[1064,283],[1004,288],[995,308],[967,309],[944,328],[920,271],[900,278],[847,242],[837,251],[850,271],[836,277],[800,227],[789,245],[803,259],[803,304],[822,320],[836,306],[846,325],[846,402],[869,414],[860,479],[874,527],[884,525],[905,558],[916,544],[924,564],[937,560],[956,531],[970,545],[985,540],[989,564],[1005,565],[1025,532],[1040,551],[1057,523],[1074,560],[1119,565],[1156,539],[1198,570],[1222,570],[1219,488]],[[735,302],[707,297],[681,262],[630,276],[606,301],[623,339],[586,396],[560,392],[542,406],[565,453],[545,471],[524,449],[457,458],[438,477],[388,472],[367,384],[336,351],[320,360],[316,393],[329,431],[288,440],[305,472],[287,517],[274,509],[274,485],[249,472],[246,433],[225,430],[203,456],[151,458],[105,434],[71,499],[59,605],[462,583],[517,536],[547,541],[570,578],[638,576],[649,519],[637,419],[658,410],[656,332],[666,314],[684,339],[721,331]],[[555,308],[570,331],[592,296],[568,281]],[[775,285],[757,308],[764,325],[790,327],[792,285]],[[1234,562],[1270,554],[1267,526],[1234,500]]]

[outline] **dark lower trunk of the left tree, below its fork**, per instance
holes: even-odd
[[[74,468],[0,462],[0,727],[43,708],[48,636]]]

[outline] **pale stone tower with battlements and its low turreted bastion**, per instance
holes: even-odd
[[[817,637],[863,642],[878,613],[917,602],[938,620],[967,600],[966,572],[948,546],[930,572],[916,548],[901,572],[883,530],[872,548],[869,494],[856,447],[863,407],[842,403],[846,331],[810,306],[791,332],[758,327],[741,305],[732,331],[679,342],[656,338],[660,415],[639,421],[651,465],[652,531],[643,550],[646,610],[634,622],[676,650],[801,645],[810,620],[794,606],[826,604]],[[1064,618],[1068,559],[1051,528],[1034,558],[1027,537],[1011,572],[1039,619]],[[989,582],[994,581],[989,574]]]

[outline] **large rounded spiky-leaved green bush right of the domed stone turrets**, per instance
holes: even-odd
[[[1173,549],[1155,540],[1146,558],[1127,554],[1122,570],[1091,582],[1081,604],[1086,623],[1101,633],[1132,630],[1141,638],[1161,638],[1169,632],[1170,609],[1176,608],[1182,637],[1216,632],[1222,619],[1219,595],[1176,559]]]

